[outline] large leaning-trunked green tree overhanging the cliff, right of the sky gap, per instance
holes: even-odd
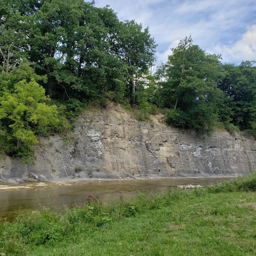
[[[217,100],[223,94],[217,88],[220,76],[220,55],[207,54],[191,37],[172,49],[166,63],[167,81],[163,83],[169,124],[193,128],[210,135],[218,120]],[[224,97],[220,97],[223,100]]]

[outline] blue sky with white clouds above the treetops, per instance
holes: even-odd
[[[256,60],[255,0],[95,0],[95,5],[109,5],[119,20],[149,27],[159,63],[190,34],[205,52],[221,54],[223,63]]]

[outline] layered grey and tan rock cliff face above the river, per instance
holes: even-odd
[[[256,169],[256,141],[228,132],[200,137],[163,122],[136,121],[120,106],[84,112],[75,134],[40,139],[35,164],[0,160],[0,180],[234,176]]]

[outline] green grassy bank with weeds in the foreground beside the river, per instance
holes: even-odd
[[[139,194],[1,220],[0,255],[255,255],[256,173],[211,187]]]

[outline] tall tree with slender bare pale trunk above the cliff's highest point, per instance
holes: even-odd
[[[142,31],[142,25],[137,24],[134,20],[120,22],[115,51],[126,64],[131,77],[133,103],[135,103],[134,78],[147,71],[149,65],[153,63],[156,46],[154,38],[150,37],[148,28]]]

